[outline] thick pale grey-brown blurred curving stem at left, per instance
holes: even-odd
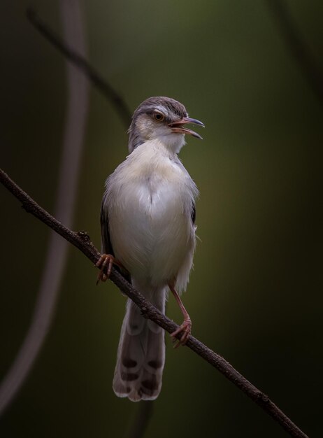
[[[78,52],[85,55],[85,31],[79,1],[62,0],[59,4],[66,44],[73,46]],[[78,192],[89,90],[87,78],[69,61],[66,61],[66,73],[68,104],[55,216],[71,226]],[[67,242],[52,232],[31,325],[15,362],[1,382],[0,415],[12,402],[27,378],[48,334],[64,275],[67,250]]]

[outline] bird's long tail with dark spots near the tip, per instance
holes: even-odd
[[[150,290],[134,284],[162,313],[165,311],[166,290]],[[141,311],[130,299],[122,323],[113,390],[118,397],[132,402],[155,400],[161,390],[165,362],[164,330]]]

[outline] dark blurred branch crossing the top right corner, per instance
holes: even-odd
[[[323,72],[313,53],[296,27],[285,0],[266,0],[282,38],[303,71],[320,104],[323,105]]]

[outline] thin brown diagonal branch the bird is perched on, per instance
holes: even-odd
[[[45,211],[39,206],[34,199],[31,199],[27,193],[25,193],[9,176],[0,169],[0,181],[5,187],[22,202],[22,206],[26,211],[33,214],[36,218],[41,220],[54,229],[55,232],[60,234],[64,239],[72,243],[78,248],[84,255],[89,258],[92,263],[96,263],[99,260],[100,253],[94,247],[84,232],[73,232],[71,229],[60,223],[57,219],[53,218],[50,213]],[[141,309],[141,313],[145,318],[149,318],[154,321],[164,330],[169,333],[174,332],[178,325],[172,320],[163,315],[157,310],[145,297],[134,289],[134,287],[127,282],[127,280],[113,269],[110,280],[117,285],[117,287],[124,292],[130,299],[132,299],[137,306]],[[180,337],[180,334],[178,334]],[[234,383],[239,389],[243,391],[251,400],[257,403],[268,415],[274,418],[282,428],[284,428],[289,435],[297,438],[308,438],[307,435],[302,432],[270,399],[267,395],[257,389],[250,381],[247,381],[232,365],[229,364],[222,356],[218,355],[214,351],[210,350],[207,346],[201,343],[198,339],[190,336],[187,341],[187,347],[201,356],[206,362],[220,371],[229,381]]]

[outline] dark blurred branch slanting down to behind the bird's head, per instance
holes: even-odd
[[[129,108],[120,96],[111,85],[104,80],[98,71],[96,71],[90,64],[87,62],[85,57],[82,57],[80,53],[75,52],[72,48],[70,48],[57,34],[55,34],[48,24],[43,22],[40,17],[36,14],[35,10],[28,9],[27,10],[27,18],[29,22],[37,29],[41,35],[43,35],[52,45],[54,45],[59,52],[61,52],[69,61],[73,62],[82,73],[92,82],[94,87],[96,87],[106,99],[111,101],[115,110],[120,115],[120,118],[124,122],[125,127],[129,127],[131,122],[131,112]]]

